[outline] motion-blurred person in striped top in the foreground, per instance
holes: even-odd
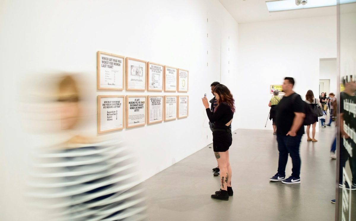
[[[76,131],[85,108],[80,81],[63,74],[52,83],[52,93],[40,93],[52,101],[47,120],[59,121],[58,130],[70,136],[33,151],[27,196],[31,206],[45,214],[38,220],[145,219],[142,190],[130,189],[138,184],[133,156],[121,142]]]

